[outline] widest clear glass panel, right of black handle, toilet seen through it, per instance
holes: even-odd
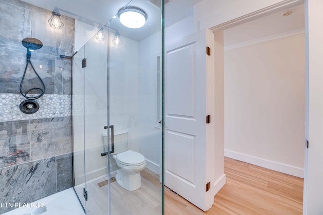
[[[128,4],[146,13],[141,28],[110,21],[111,214],[162,213],[162,2]]]

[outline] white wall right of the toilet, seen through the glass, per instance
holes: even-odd
[[[146,167],[160,174],[161,163],[161,32],[157,32],[139,42],[139,101],[140,119],[143,121],[139,152],[145,156]],[[157,57],[159,56],[159,61]],[[159,65],[159,71],[157,68]],[[157,91],[157,76],[159,90]],[[157,92],[159,93],[159,113],[157,114]],[[158,117],[157,117],[158,116]]]

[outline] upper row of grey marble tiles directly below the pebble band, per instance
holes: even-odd
[[[0,122],[0,168],[72,152],[71,117]]]

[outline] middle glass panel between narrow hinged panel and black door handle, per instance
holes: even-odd
[[[85,174],[88,214],[106,214],[108,207],[107,151],[107,28],[104,27],[84,46],[84,130]]]

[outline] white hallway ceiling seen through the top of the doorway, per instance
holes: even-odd
[[[224,31],[224,45],[231,46],[258,38],[282,34],[296,29],[304,29],[304,4],[293,7],[290,16],[283,17],[287,11],[280,11]]]

